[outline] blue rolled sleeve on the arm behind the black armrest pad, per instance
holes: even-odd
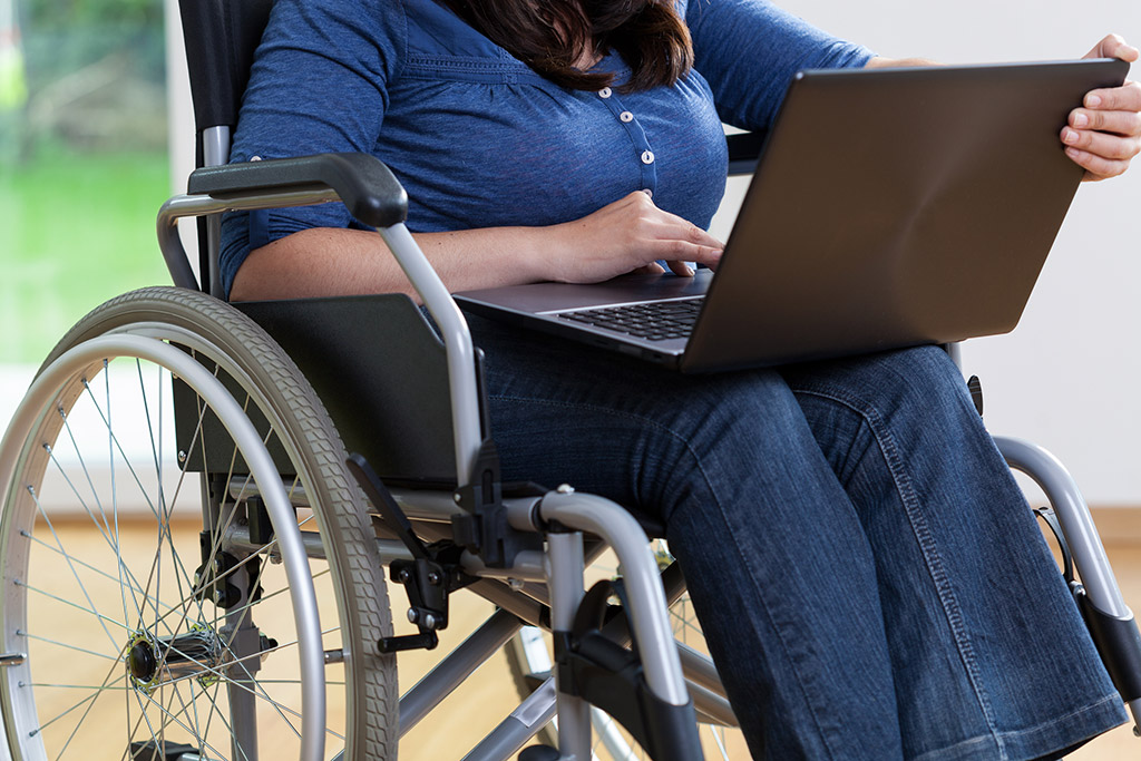
[[[278,0],[250,73],[230,161],[372,153],[404,44],[399,2]],[[340,203],[226,214],[224,288],[229,291],[251,250],[301,229],[350,222]]]

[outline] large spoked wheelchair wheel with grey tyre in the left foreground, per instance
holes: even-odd
[[[178,347],[229,389],[274,455],[304,552],[283,556],[274,539],[259,499],[268,487],[227,435],[235,413],[170,363],[87,351],[99,337],[136,340],[124,335]],[[324,756],[395,758],[375,537],[324,408],[276,343],[220,301],[148,289],[84,317],[40,375],[60,380],[33,384],[22,411],[39,412],[0,450],[13,756],[305,758],[301,697],[314,680],[301,678],[311,672],[283,570],[300,556],[319,602]]]

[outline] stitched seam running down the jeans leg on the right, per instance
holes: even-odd
[[[834,389],[825,391],[820,389],[810,390],[793,388],[793,395],[801,394],[806,396],[816,396],[843,405],[864,418],[864,421],[871,427],[872,432],[880,445],[880,452],[882,453],[884,462],[888,465],[888,470],[896,484],[896,492],[899,495],[899,500],[907,513],[907,519],[912,524],[912,531],[915,533],[915,539],[920,543],[920,550],[923,552],[923,558],[928,566],[928,573],[931,574],[931,581],[936,585],[939,602],[942,606],[944,614],[947,616],[947,623],[950,626],[952,634],[955,638],[955,645],[958,648],[958,656],[963,662],[964,669],[966,670],[968,678],[971,681],[971,687],[974,689],[974,697],[979,702],[979,709],[982,711],[982,717],[986,721],[987,728],[990,730],[990,736],[998,746],[1000,760],[1006,761],[1006,750],[1003,746],[1002,738],[997,727],[995,726],[994,711],[990,706],[990,701],[987,697],[986,690],[982,688],[981,674],[979,673],[978,662],[974,656],[974,647],[971,643],[970,634],[964,625],[958,600],[949,580],[947,578],[946,569],[942,567],[942,559],[939,554],[938,544],[931,533],[930,526],[923,517],[922,509],[919,504],[919,497],[915,494],[912,480],[907,475],[906,468],[904,467],[904,461],[899,454],[895,437],[891,435],[890,426],[885,423],[876,408],[864,404],[859,399],[849,398],[842,391]]]

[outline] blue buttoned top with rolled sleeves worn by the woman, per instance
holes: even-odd
[[[544,80],[436,0],[278,0],[232,160],[372,153],[407,189],[413,232],[552,225],[638,189],[705,228],[725,192],[721,122],[763,129],[798,70],[871,52],[766,0],[677,1],[694,71],[620,94]],[[599,67],[629,73],[617,55]],[[222,283],[273,240],[353,226],[341,204],[227,214]]]

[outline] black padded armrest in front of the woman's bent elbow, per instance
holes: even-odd
[[[408,214],[408,195],[393,172],[367,153],[322,153],[197,169],[186,191],[192,195],[256,196],[330,187],[349,213],[365,225],[391,227]]]

